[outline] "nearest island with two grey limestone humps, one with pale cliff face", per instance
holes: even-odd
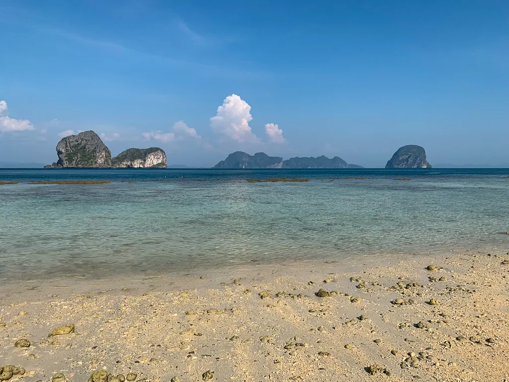
[[[62,138],[56,154],[59,160],[45,169],[166,168],[166,153],[159,147],[131,148],[111,158],[111,151],[92,130]]]

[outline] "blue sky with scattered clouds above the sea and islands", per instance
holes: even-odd
[[[509,2],[0,0],[0,101],[0,161],[94,130],[168,165],[508,163]]]

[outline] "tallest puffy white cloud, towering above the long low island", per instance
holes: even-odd
[[[251,106],[236,94],[224,99],[217,108],[217,114],[210,119],[212,130],[237,142],[259,141],[251,132],[249,121]]]

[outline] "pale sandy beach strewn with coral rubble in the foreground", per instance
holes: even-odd
[[[199,381],[207,370],[218,381],[504,381],[509,378],[506,252],[253,264],[210,271],[203,279],[10,283],[0,287],[0,322],[6,323],[0,328],[0,366],[26,369],[11,381],[48,381],[62,372],[80,382],[102,369],[115,375],[136,372],[137,379],[147,381],[175,376]],[[429,264],[443,269],[429,271]],[[358,289],[351,277],[367,284]],[[327,278],[332,281],[324,283]],[[400,281],[419,286],[391,288]],[[322,287],[340,294],[315,296]],[[262,291],[272,297],[262,299]],[[276,297],[281,291],[305,297]],[[362,301],[352,303],[349,295]],[[392,305],[395,298],[413,298],[415,304]],[[427,304],[431,298],[441,304]],[[361,315],[367,319],[356,318]],[[420,321],[433,329],[415,327]],[[74,333],[47,337],[71,322]],[[264,336],[268,342],[260,340]],[[16,348],[20,338],[32,345]],[[415,354],[408,359],[410,352]],[[390,376],[369,374],[364,368],[373,364],[387,368]]]

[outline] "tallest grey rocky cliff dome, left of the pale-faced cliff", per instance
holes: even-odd
[[[45,168],[107,168],[111,167],[111,152],[94,131],[69,135],[56,145],[59,160]]]

